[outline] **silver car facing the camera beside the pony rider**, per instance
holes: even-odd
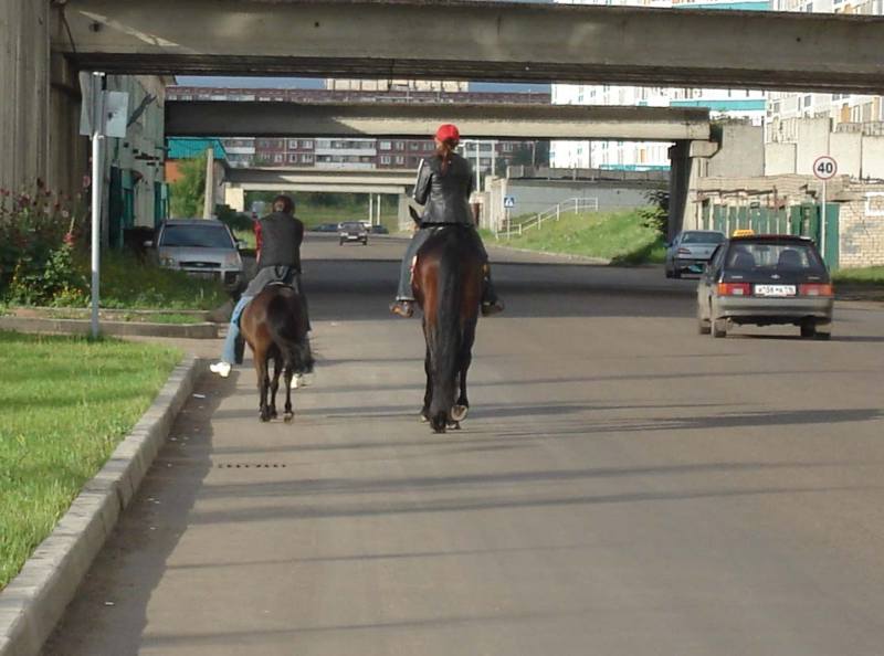
[[[156,257],[160,266],[193,276],[218,278],[229,292],[244,283],[242,246],[227,225],[214,219],[171,219],[157,231]]]

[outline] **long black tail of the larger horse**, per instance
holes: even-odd
[[[444,431],[451,419],[461,367],[463,326],[460,310],[464,289],[460,256],[453,246],[449,243],[439,261],[435,321],[428,326],[427,335],[433,378],[429,419],[434,431]]]

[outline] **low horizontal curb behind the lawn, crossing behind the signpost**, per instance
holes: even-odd
[[[54,332],[90,335],[91,324],[85,319],[46,319],[39,317],[0,317],[0,329],[20,332]],[[178,337],[185,339],[217,339],[218,326],[200,324],[151,324],[147,321],[102,321],[102,335],[114,337]]]

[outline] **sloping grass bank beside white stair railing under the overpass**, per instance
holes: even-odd
[[[610,260],[611,264],[661,263],[665,246],[660,235],[643,225],[638,211],[567,212],[499,243],[544,253],[565,253]],[[493,243],[493,242],[492,242]]]

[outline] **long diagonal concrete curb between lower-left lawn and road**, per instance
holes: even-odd
[[[186,356],[55,530],[0,592],[0,656],[40,653],[141,484],[200,371],[200,360]]]

